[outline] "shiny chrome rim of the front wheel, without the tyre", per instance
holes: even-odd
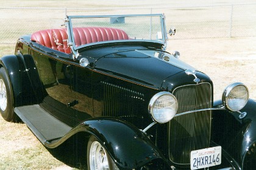
[[[105,149],[101,146],[101,144],[98,141],[94,141],[93,144],[91,144],[90,169],[109,169]]]

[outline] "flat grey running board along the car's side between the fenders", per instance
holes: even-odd
[[[38,104],[15,107],[14,111],[44,145],[59,140],[72,129]]]

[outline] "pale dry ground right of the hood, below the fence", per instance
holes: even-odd
[[[213,81],[214,100],[224,88],[241,82],[256,99],[256,37],[169,40],[169,52],[178,50],[180,60],[206,73]],[[171,49],[171,50],[170,50]]]

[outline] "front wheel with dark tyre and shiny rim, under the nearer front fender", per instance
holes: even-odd
[[[87,146],[88,170],[116,170],[118,169],[108,152],[93,135],[89,138]]]

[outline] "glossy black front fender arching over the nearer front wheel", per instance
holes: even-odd
[[[170,167],[155,144],[132,124],[115,118],[101,118],[87,120],[81,126],[98,138],[119,169],[140,168],[154,160],[161,160],[160,166],[164,169]]]

